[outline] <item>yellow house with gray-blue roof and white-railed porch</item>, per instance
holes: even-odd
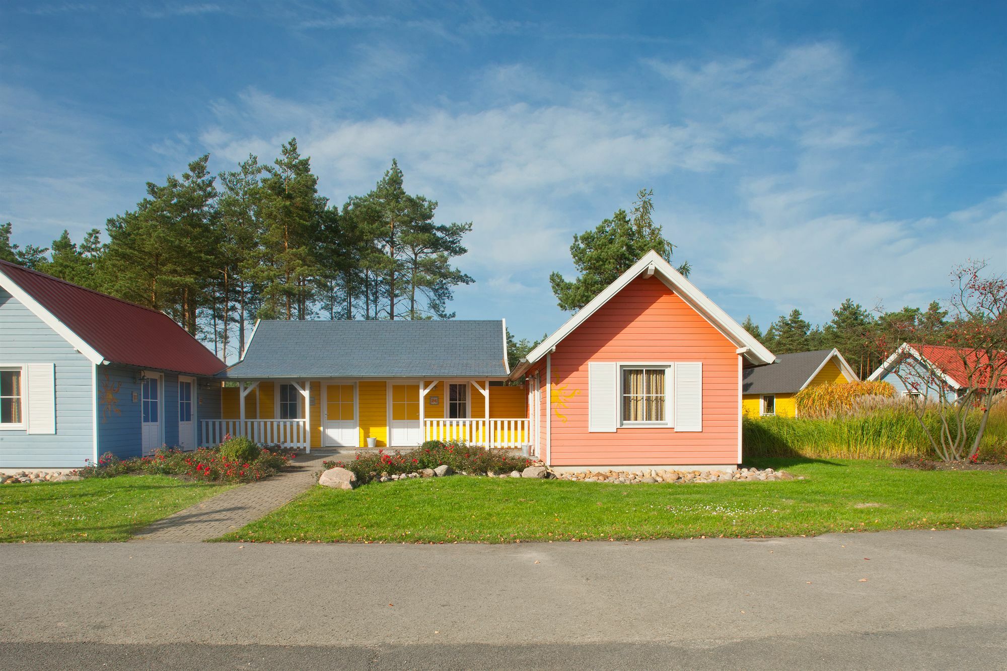
[[[262,320],[220,374],[221,419],[201,423],[200,443],[528,449],[526,391],[503,385],[510,373],[502,319]]]

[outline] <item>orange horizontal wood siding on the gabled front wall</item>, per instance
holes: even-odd
[[[638,278],[588,317],[552,355],[552,463],[555,465],[738,461],[735,346],[657,278]],[[587,430],[587,365],[702,362],[703,430]]]

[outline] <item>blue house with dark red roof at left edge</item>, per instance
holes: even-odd
[[[0,468],[195,447],[224,368],[162,312],[0,261]]]

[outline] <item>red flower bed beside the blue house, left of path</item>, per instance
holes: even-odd
[[[116,476],[156,474],[183,476],[207,483],[252,483],[276,474],[287,465],[296,452],[279,446],[260,447],[258,455],[249,460],[232,460],[220,447],[200,447],[182,451],[164,447],[147,456],[119,459],[107,452],[98,463],[89,463],[77,471],[82,478],[114,478]]]

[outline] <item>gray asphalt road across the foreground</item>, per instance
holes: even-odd
[[[0,668],[1007,668],[1007,529],[0,545]]]

